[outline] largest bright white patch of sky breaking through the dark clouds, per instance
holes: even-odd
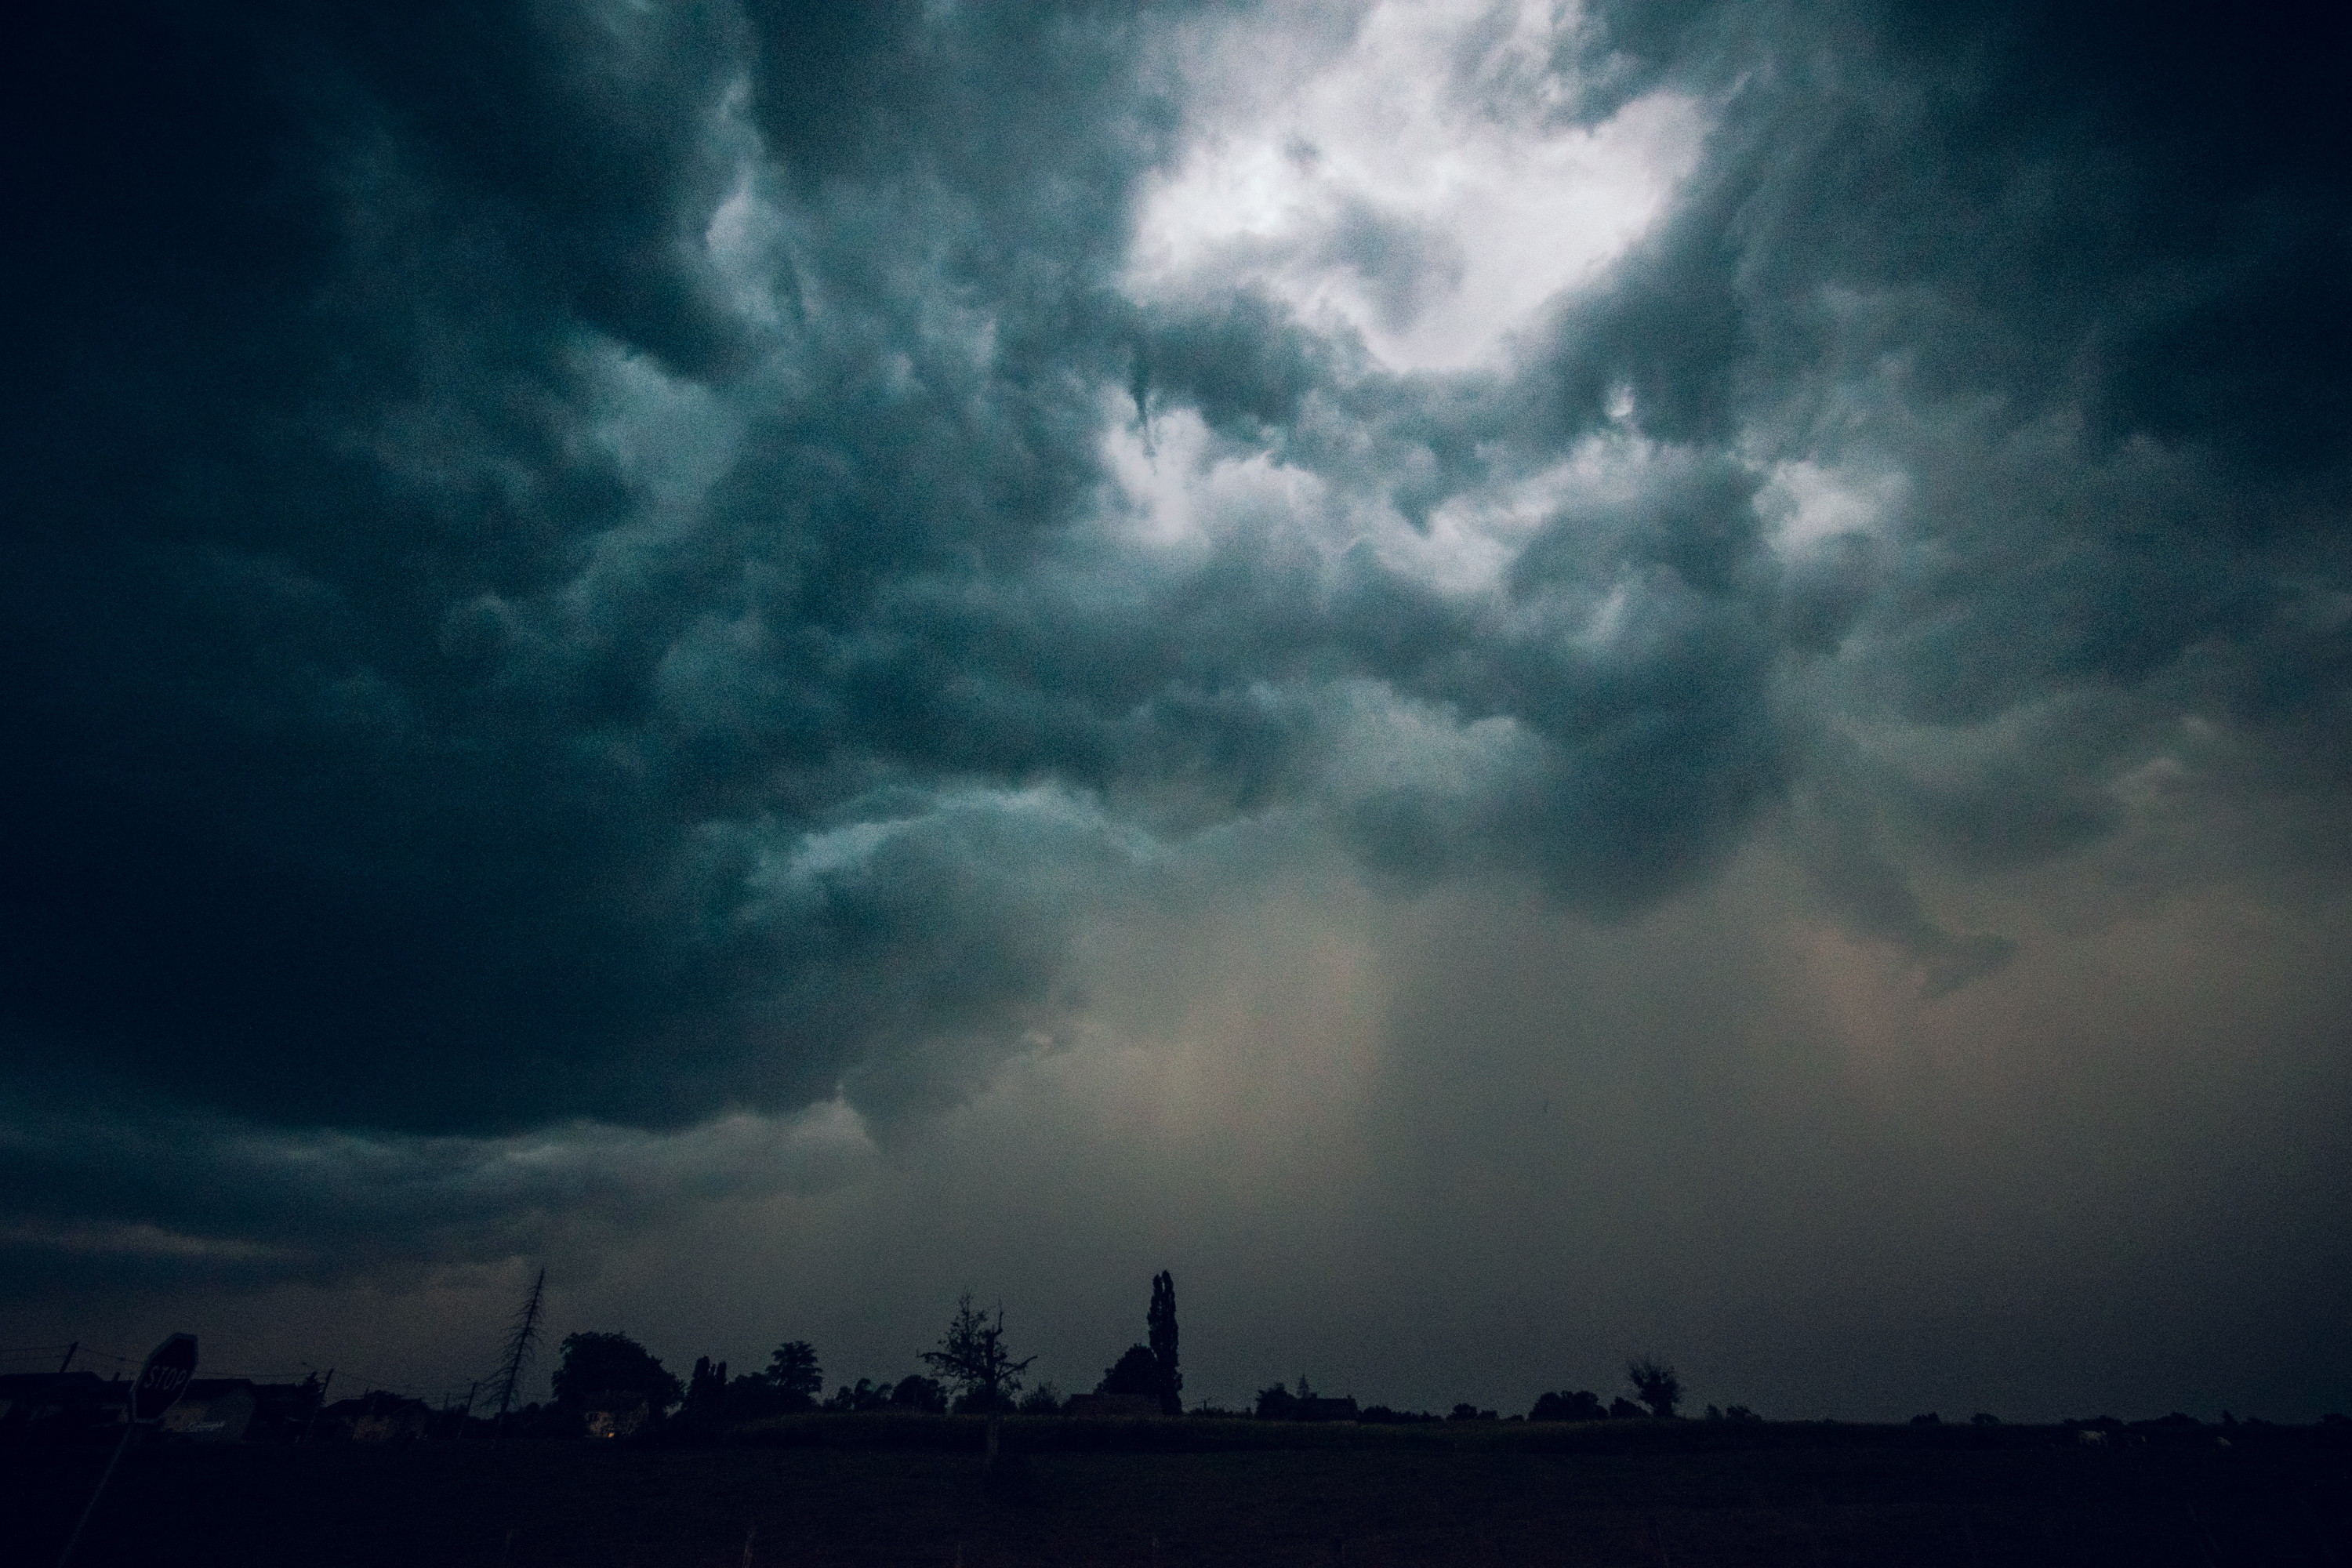
[[[1491,360],[1512,327],[1632,244],[1696,167],[1705,108],[1635,99],[1583,127],[1552,66],[1573,9],[1524,5],[1479,52],[1489,5],[1392,0],[1348,45],[1296,59],[1282,19],[1244,26],[1195,71],[1195,141],[1145,195],[1129,256],[1138,299],[1261,287],[1362,331],[1390,369]],[[1272,31],[1272,38],[1261,33]],[[1475,59],[1470,71],[1458,66]],[[1284,92],[1263,92],[1268,78]]]

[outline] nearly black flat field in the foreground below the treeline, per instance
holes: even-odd
[[[983,1483],[962,1446],[976,1427],[917,1436],[891,1420],[708,1448],[158,1443],[125,1465],[78,1561],[2352,1568],[2352,1450],[2319,1432],[2100,1450],[2070,1432],[1759,1427],[1726,1441],[1689,1422],[1644,1441],[1319,1429],[1277,1448],[1237,1425],[1228,1439],[1134,1439],[1192,1443],[1178,1450],[1073,1450],[1049,1443],[1080,1439],[1014,1422],[1023,1450]],[[52,1563],[103,1460],[0,1455],[0,1563]]]

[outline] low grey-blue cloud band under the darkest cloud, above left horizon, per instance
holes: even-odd
[[[219,1117],[12,1107],[0,1255],[26,1293],[343,1284],[553,1246],[593,1253],[684,1206],[840,1187],[873,1145],[840,1105],[682,1133],[560,1124],[508,1138],[296,1131]]]

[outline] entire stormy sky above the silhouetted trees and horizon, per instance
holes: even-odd
[[[2352,1403],[2343,19],[56,26],[9,1345]]]

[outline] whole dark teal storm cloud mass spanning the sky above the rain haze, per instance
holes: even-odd
[[[2190,710],[2345,750],[2326,42],[2136,16],[1604,7],[1562,113],[1689,92],[1700,165],[1461,374],[1122,289],[1181,14],[75,24],[12,99],[9,1051],[386,1135],[908,1114],[1244,818],[1621,914],[1780,813],[1964,983],[1922,867],[2096,842]],[[1390,327],[1463,266],[1317,244]],[[1105,435],[1181,416],[1317,498],[1134,545]],[[1903,482],[1792,538],[1790,463]],[[1371,538],[1522,491],[1489,590]]]

